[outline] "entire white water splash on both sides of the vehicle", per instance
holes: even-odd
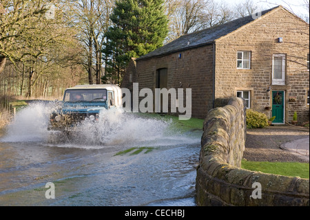
[[[104,110],[99,121],[83,121],[79,132],[65,135],[48,131],[49,115],[56,103],[33,103],[17,113],[14,121],[7,127],[3,142],[41,142],[74,143],[75,146],[115,146],[123,144],[154,143],[167,136],[169,121],[137,117],[136,114]]]

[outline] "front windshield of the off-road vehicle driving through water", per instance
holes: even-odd
[[[107,90],[65,90],[63,101],[106,101]]]

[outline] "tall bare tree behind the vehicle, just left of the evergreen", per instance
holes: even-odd
[[[83,62],[87,68],[89,83],[95,81],[100,84],[103,62],[102,48],[105,42],[104,34],[110,26],[110,14],[114,6],[113,0],[82,0],[72,1],[74,6],[73,26],[78,30],[76,37],[85,46],[87,61]],[[94,66],[95,63],[95,66]]]

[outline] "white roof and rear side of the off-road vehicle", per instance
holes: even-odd
[[[106,89],[107,91],[114,91],[115,106],[122,106],[123,92],[121,88],[114,84],[94,84],[94,85],[77,85],[66,90],[90,90],[90,89]]]

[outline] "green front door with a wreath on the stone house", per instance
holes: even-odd
[[[272,92],[272,117],[276,116],[273,123],[284,123],[284,91]]]

